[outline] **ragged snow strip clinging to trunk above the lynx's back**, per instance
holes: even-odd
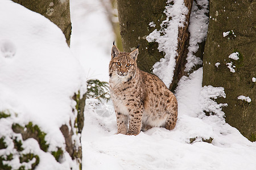
[[[174,2],[174,5],[171,5],[170,2]],[[160,24],[162,29],[159,31],[155,29],[146,39],[148,42],[158,42],[159,52],[165,53],[164,58],[155,63],[152,72],[169,87],[174,76],[178,28],[184,27],[183,23],[185,22],[188,8],[180,0],[168,0],[167,4],[164,11],[167,18]]]

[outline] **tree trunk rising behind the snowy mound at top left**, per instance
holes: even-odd
[[[66,37],[68,46],[71,38],[71,19],[69,0],[13,0],[13,2],[42,14],[55,23]]]

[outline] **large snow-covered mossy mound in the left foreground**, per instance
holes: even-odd
[[[0,169],[81,169],[79,61],[42,15],[3,0],[0,21]]]

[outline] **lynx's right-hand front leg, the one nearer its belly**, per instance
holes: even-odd
[[[129,115],[129,130],[127,135],[138,135],[141,132],[142,112],[135,111]]]

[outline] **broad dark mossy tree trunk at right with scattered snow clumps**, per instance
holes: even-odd
[[[226,122],[250,141],[256,140],[255,22],[253,1],[210,0],[210,22],[204,50],[203,86],[224,87]],[[232,53],[239,59],[229,58]],[[216,65],[217,63],[217,65]],[[219,64],[220,63],[220,64]],[[249,96],[239,100],[238,96]]]

